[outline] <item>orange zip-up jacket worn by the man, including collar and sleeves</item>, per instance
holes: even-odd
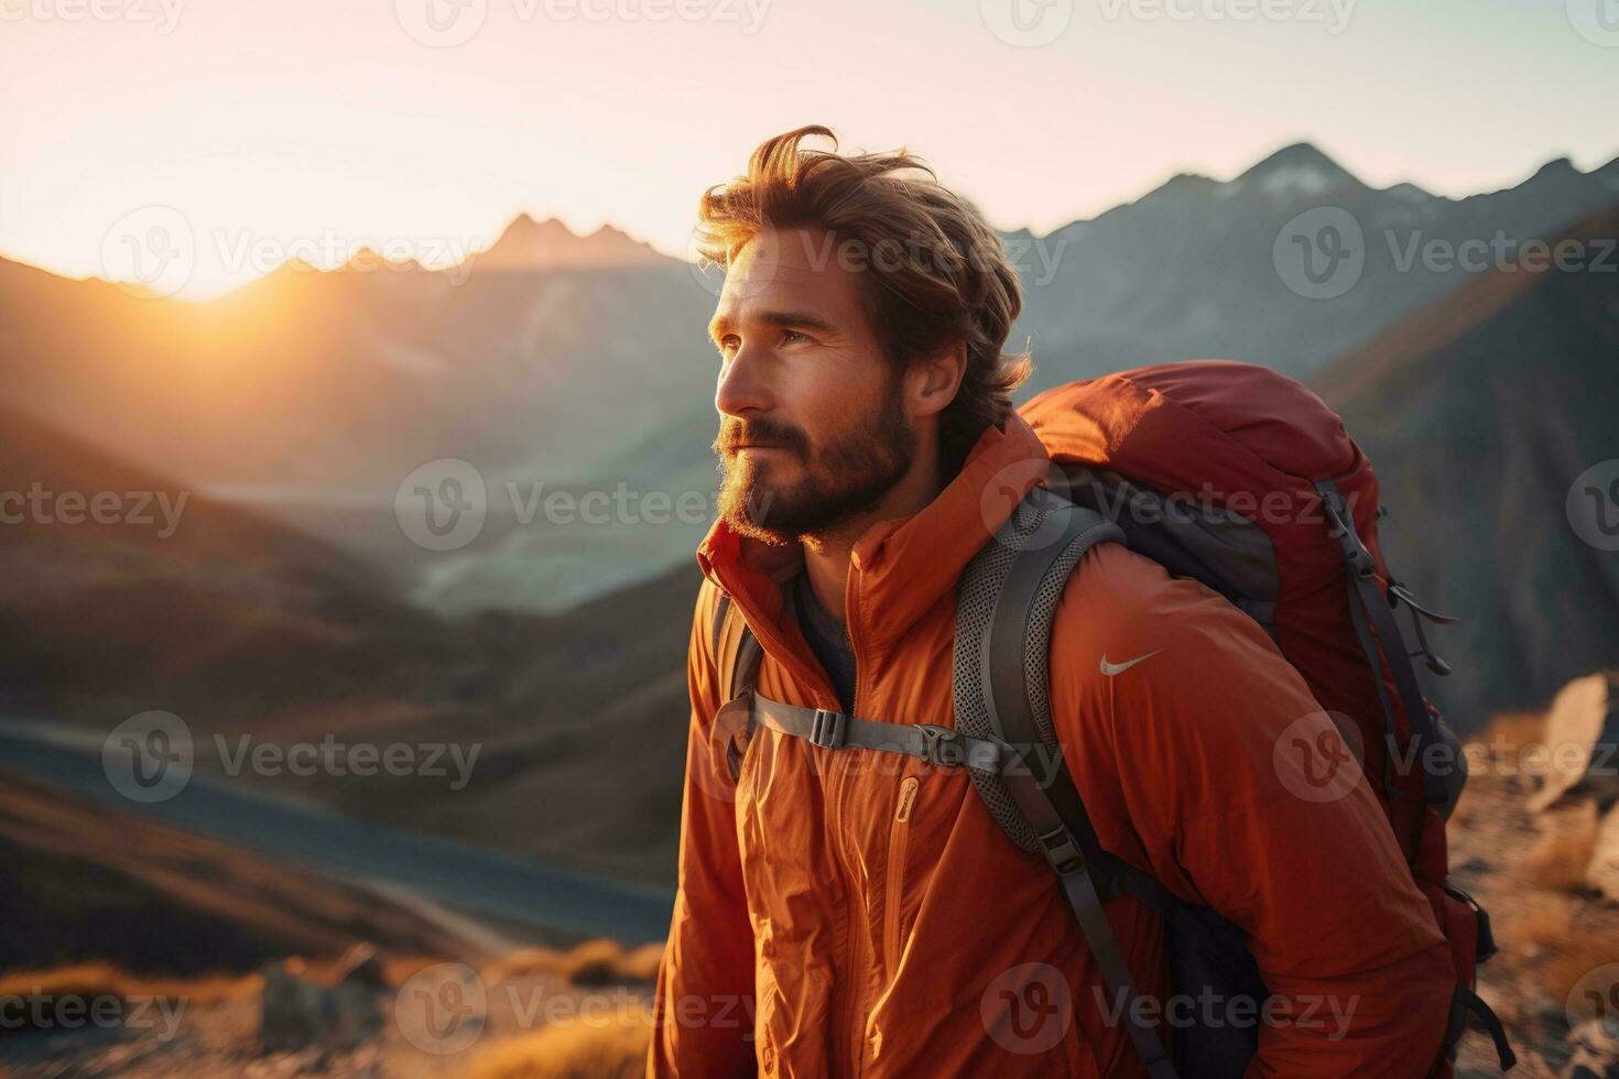
[[[1022,476],[1022,495],[1044,471],[1018,463],[1044,456],[1013,416],[933,503],[856,544],[856,715],[954,726],[957,578],[1015,501],[986,500],[986,485]],[[717,523],[698,561],[680,886],[648,1074],[1145,1074],[1056,875],[997,828],[963,770],[761,728],[730,783],[712,726],[717,589],[764,647],[764,696],[839,704],[777,589],[801,552]],[[1148,654],[1101,671],[1104,655]],[[1104,545],[1059,603],[1051,705],[1103,846],[1250,935],[1279,1019],[1251,1076],[1428,1071],[1449,948],[1363,778],[1331,801],[1292,793],[1276,744],[1319,707],[1258,624]],[[1138,988],[1164,1001],[1158,919],[1132,898],[1107,914]]]

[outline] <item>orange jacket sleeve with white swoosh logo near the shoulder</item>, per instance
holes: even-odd
[[[1052,633],[1052,717],[1103,846],[1248,933],[1273,993],[1248,1076],[1426,1074],[1449,946],[1366,778],[1329,752],[1332,720],[1264,631],[1107,545]]]

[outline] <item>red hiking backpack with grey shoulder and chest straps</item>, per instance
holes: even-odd
[[[732,775],[761,723],[832,749],[863,746],[965,765],[1002,831],[1057,874],[1103,980],[1127,1005],[1122,1014],[1138,1013],[1130,1006],[1132,974],[1103,914],[1117,895],[1162,917],[1174,993],[1251,998],[1248,1014],[1258,1014],[1268,993],[1243,933],[1103,849],[1060,764],[1047,702],[1056,602],[1085,552],[1127,544],[1263,626],[1355,752],[1455,966],[1443,1055],[1428,1074],[1452,1074],[1470,1016],[1493,1037],[1501,1069],[1512,1068],[1506,1032],[1475,993],[1477,964],[1496,950],[1489,917],[1446,878],[1444,823],[1465,781],[1465,759],[1420,692],[1396,611],[1410,610],[1417,655],[1436,675],[1449,668],[1428,647],[1421,621],[1454,620],[1421,607],[1389,573],[1376,529],[1378,480],[1342,421],[1292,379],[1230,361],[1073,382],[1020,413],[1051,469],[957,586],[955,726],[879,723],[764,699],[753,691],[758,641],[722,595],[712,644],[729,700],[722,712],[737,728],[727,749]],[[1056,762],[1043,775],[1033,754],[1025,760],[1017,749],[1041,744]],[[1127,1032],[1153,1079],[1235,1079],[1258,1045],[1256,1024],[1193,1024],[1167,1051],[1145,1022],[1128,1022]]]

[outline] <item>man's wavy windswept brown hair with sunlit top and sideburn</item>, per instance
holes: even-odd
[[[808,136],[832,150],[803,149]],[[761,142],[748,171],[704,191],[698,209],[698,249],[722,267],[759,233],[787,230],[824,233],[826,251],[860,270],[866,315],[897,369],[967,345],[967,372],[939,422],[941,469],[954,476],[984,427],[1005,422],[1030,372],[1026,353],[1002,351],[1023,293],[1001,238],[921,159],[837,154],[837,136],[819,125]]]

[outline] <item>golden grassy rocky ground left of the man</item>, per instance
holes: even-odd
[[[374,959],[346,967],[293,963],[206,993],[176,985],[164,1006],[128,993],[121,1022],[11,1034],[0,1074],[610,1079],[644,1068],[656,953],[597,941],[481,969]]]

